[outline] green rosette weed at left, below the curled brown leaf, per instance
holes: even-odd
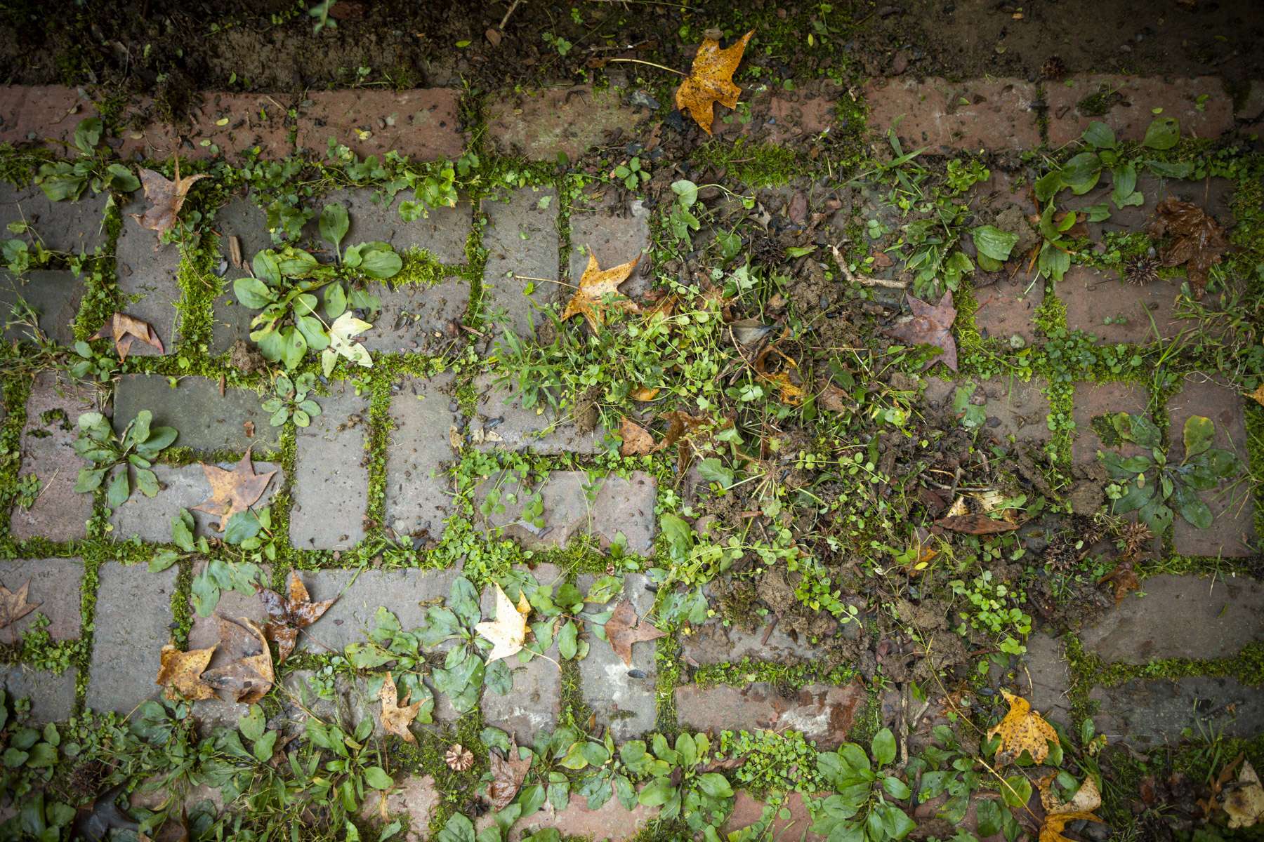
[[[158,494],[158,477],[150,470],[162,452],[176,441],[176,428],[153,427],[153,413],[142,409],[137,417],[115,436],[110,422],[101,413],[83,413],[78,417],[78,438],[75,452],[90,467],[80,468],[75,490],[80,494],[96,491],[107,473],[114,472],[106,487],[106,502],[118,509],[131,496],[133,476],[135,487],[147,497]]]

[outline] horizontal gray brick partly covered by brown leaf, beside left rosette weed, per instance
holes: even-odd
[[[231,462],[220,462],[225,471],[236,467]],[[255,473],[267,473],[277,470],[278,465],[272,462],[255,462]],[[219,525],[219,518],[205,511],[193,511],[193,506],[205,501],[211,494],[211,486],[206,480],[206,472],[201,465],[185,465],[172,467],[169,465],[155,465],[153,468],[158,475],[162,491],[157,497],[147,497],[143,494],[133,492],[131,499],[115,509],[110,514],[110,523],[114,525],[114,537],[123,540],[138,535],[140,540],[152,544],[166,544],[171,542],[171,521],[179,515],[181,509],[188,509],[196,524],[195,535],[214,535],[214,525]],[[272,501],[277,490],[284,482],[284,475],[279,471],[263,496],[254,504],[259,510]]]

